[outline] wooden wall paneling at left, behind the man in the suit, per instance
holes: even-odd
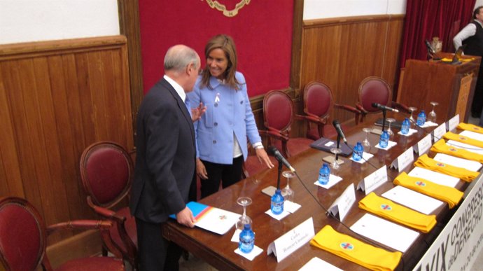
[[[126,47],[123,36],[0,46],[0,196],[25,197],[47,224],[96,217],[78,162],[95,141],[134,148]]]

